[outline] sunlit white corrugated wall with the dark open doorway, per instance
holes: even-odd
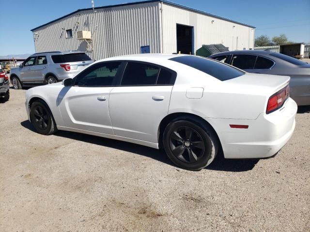
[[[229,50],[253,49],[255,29],[250,27],[172,6],[169,3],[163,3],[162,14],[164,53],[178,52],[176,24],[194,27],[195,52],[202,44],[213,43],[222,43],[229,47]]]

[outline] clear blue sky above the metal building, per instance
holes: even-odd
[[[94,0],[95,6],[137,0]],[[211,14],[256,27],[256,36],[286,34],[294,42],[310,43],[310,0],[172,0]],[[10,2],[10,1],[8,1]],[[2,4],[3,5],[3,4]],[[2,9],[0,56],[33,53],[30,29],[91,7],[91,0],[14,0]]]

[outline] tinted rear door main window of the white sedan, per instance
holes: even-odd
[[[128,62],[121,86],[155,85],[159,69],[150,64]]]

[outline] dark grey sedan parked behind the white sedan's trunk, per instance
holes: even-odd
[[[280,53],[261,50],[222,52],[209,58],[248,73],[290,76],[290,95],[297,105],[310,105],[310,64]]]

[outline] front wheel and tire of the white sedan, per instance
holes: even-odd
[[[50,135],[57,131],[52,113],[42,101],[35,101],[32,103],[30,118],[35,130],[40,134]]]

